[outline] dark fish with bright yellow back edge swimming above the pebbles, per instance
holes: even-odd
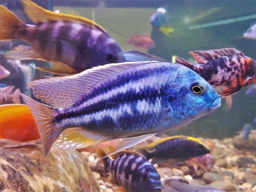
[[[152,159],[153,164],[167,159],[172,159],[175,164],[210,153],[210,148],[204,143],[184,135],[162,138],[138,149],[147,159]]]

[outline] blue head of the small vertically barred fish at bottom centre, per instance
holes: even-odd
[[[133,174],[133,191],[161,192],[162,185],[160,175],[157,173],[155,167],[146,158],[143,158],[143,160],[145,162],[139,166]]]

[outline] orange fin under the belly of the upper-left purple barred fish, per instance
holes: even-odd
[[[48,73],[53,73],[57,75],[74,75],[78,73],[76,69],[71,68],[67,64],[64,63],[52,63],[51,67],[36,67],[34,66],[35,69],[38,69],[40,71],[48,72]]]

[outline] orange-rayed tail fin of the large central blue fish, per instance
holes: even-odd
[[[42,139],[44,156],[46,157],[54,141],[57,140],[62,132],[61,128],[57,127],[56,124],[52,122],[55,108],[39,103],[22,93],[21,97],[30,108],[37,122],[37,127]]]

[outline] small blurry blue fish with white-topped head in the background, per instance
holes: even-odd
[[[156,9],[155,13],[150,17],[150,24],[153,27],[161,27],[162,25],[169,24],[170,16],[164,7]]]

